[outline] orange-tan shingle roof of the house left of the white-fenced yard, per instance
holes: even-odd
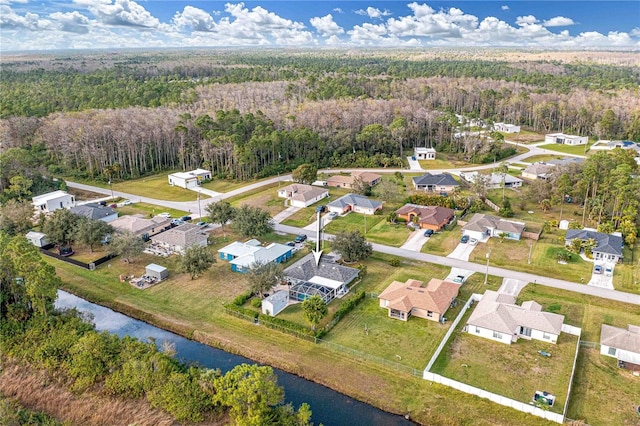
[[[388,307],[403,312],[413,308],[424,309],[443,314],[449,308],[451,300],[458,295],[459,285],[432,278],[426,287],[422,281],[409,279],[406,283],[392,282],[379,296],[388,300]]]

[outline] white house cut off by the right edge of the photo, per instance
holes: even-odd
[[[640,327],[628,325],[626,329],[602,324],[600,353],[618,360],[618,367],[640,371]]]

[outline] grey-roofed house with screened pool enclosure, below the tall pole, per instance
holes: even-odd
[[[347,292],[347,286],[358,277],[356,268],[340,265],[330,256],[322,255],[316,263],[313,253],[284,270],[290,284],[289,299],[303,302],[311,296],[320,296],[325,303]]]

